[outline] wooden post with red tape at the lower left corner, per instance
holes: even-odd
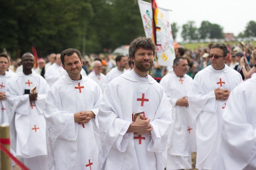
[[[10,141],[10,124],[4,123],[0,125],[0,138],[2,141]],[[4,142],[3,146],[10,151],[10,144]],[[10,142],[9,142],[10,143]],[[11,158],[1,151],[1,170],[11,170]]]

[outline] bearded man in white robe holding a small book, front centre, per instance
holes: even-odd
[[[172,106],[148,75],[155,51],[151,38],[135,39],[129,47],[134,69],[105,88],[97,117],[100,170],[163,170],[167,164]]]

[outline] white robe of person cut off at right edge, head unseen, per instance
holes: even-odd
[[[223,113],[220,148],[213,170],[256,169],[256,74],[238,85]]]

